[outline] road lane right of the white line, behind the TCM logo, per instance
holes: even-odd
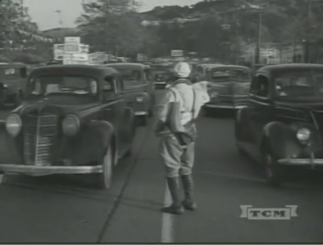
[[[198,211],[176,216],[176,243],[319,243],[322,182],[269,187],[262,168],[235,149],[232,119],[201,118],[194,166]],[[322,179],[322,178],[321,178]],[[298,205],[290,220],[240,218],[240,205],[284,208]]]

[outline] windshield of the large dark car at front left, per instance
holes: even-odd
[[[31,78],[29,88],[33,95],[97,94],[97,81],[83,76],[42,76]]]

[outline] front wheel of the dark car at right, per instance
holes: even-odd
[[[269,150],[264,151],[263,161],[265,164],[265,177],[268,184],[274,187],[280,187],[282,185],[282,169]]]

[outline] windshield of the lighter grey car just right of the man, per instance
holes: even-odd
[[[249,80],[250,73],[248,70],[240,69],[221,69],[211,71],[211,81],[213,82],[225,82],[230,78],[238,80]]]

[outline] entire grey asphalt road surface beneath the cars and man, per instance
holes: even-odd
[[[0,243],[323,242],[322,175],[295,172],[273,189],[262,169],[237,153],[232,118],[202,117],[198,131],[196,212],[160,213],[169,194],[149,125],[138,129],[133,156],[121,160],[109,191],[95,189],[90,176],[7,176]],[[249,220],[240,217],[240,205],[298,208],[290,220]]]

